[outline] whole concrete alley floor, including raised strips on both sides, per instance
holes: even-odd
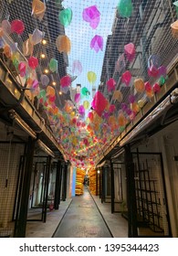
[[[46,223],[28,221],[26,238],[127,238],[127,226],[120,213],[111,214],[110,204],[101,204],[85,187],[83,196],[68,198],[48,212]]]

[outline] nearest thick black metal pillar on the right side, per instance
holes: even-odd
[[[134,180],[134,164],[132,161],[131,146],[125,145],[125,167],[127,176],[127,205],[128,205],[128,237],[137,238],[137,206]]]

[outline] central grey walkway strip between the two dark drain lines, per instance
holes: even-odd
[[[110,238],[107,228],[87,187],[83,196],[74,197],[60,222],[55,238]]]

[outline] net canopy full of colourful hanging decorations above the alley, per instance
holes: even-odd
[[[79,168],[97,164],[178,57],[178,1],[2,0],[0,14],[1,51]]]

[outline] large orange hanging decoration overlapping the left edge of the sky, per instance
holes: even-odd
[[[71,43],[67,36],[59,35],[56,40],[56,46],[60,53],[66,52],[68,54],[70,52]]]

